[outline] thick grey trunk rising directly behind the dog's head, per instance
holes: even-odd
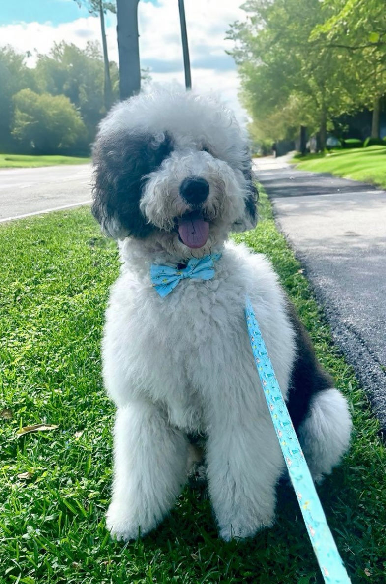
[[[139,0],[116,0],[120,98],[141,91],[137,9]]]

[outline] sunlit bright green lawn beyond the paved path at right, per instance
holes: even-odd
[[[295,158],[301,171],[331,172],[347,179],[360,180],[386,189],[386,145],[336,150],[327,154],[308,154]]]

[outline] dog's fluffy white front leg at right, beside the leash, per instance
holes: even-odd
[[[251,412],[238,420],[217,418],[208,435],[207,465],[222,539],[252,537],[272,525],[283,457],[270,420],[253,420]]]

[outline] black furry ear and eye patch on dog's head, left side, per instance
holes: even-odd
[[[168,134],[100,130],[93,148],[92,214],[114,239],[144,238],[156,227],[140,211],[143,177],[172,151]]]

